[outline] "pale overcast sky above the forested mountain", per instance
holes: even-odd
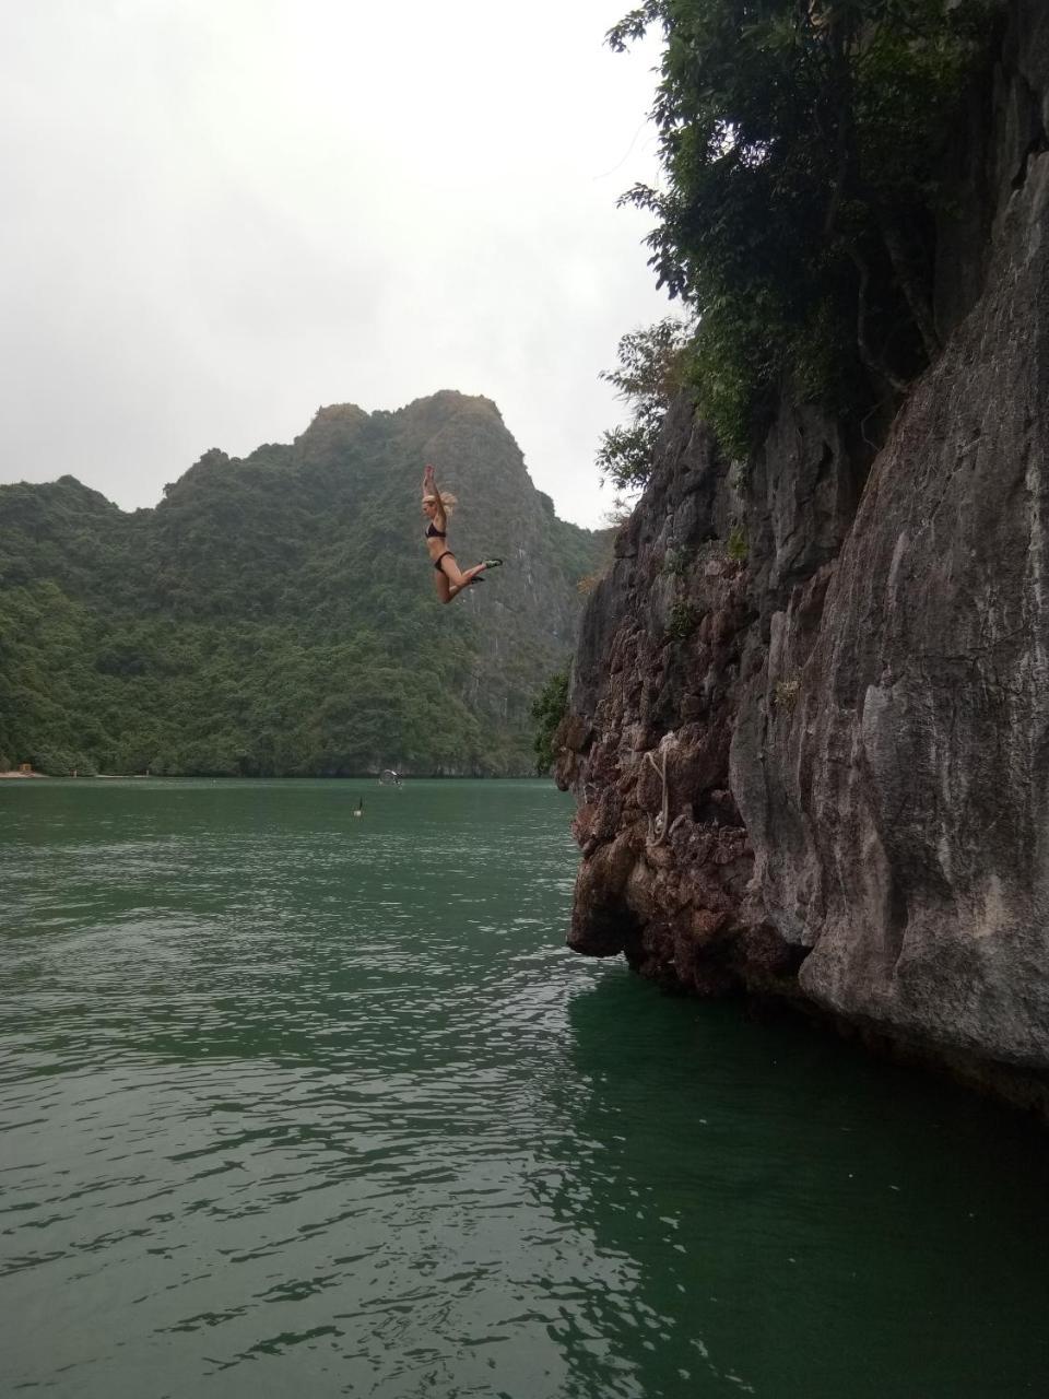
[[[320,404],[459,389],[600,523],[597,374],[671,309],[615,207],[656,179],[629,7],[0,0],[0,480],[154,505]]]

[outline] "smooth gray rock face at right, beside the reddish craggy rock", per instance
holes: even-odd
[[[814,644],[792,599],[733,747],[761,902],[813,949],[801,989],[1017,1065],[1049,1065],[1048,196],[1039,155],[874,466]]]

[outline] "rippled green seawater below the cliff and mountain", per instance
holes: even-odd
[[[0,783],[0,1393],[1049,1392],[1046,1137],[572,956],[569,817]]]

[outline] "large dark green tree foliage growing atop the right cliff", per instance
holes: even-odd
[[[699,406],[744,453],[785,381],[831,406],[937,350],[939,159],[992,0],[645,0],[666,50],[650,263],[698,318]]]

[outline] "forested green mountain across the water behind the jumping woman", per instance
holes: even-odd
[[[450,607],[420,477],[455,491]],[[494,403],[320,409],[291,446],[207,452],[155,509],[71,476],[0,487],[0,768],[338,775],[533,769],[601,534],[557,519]]]

